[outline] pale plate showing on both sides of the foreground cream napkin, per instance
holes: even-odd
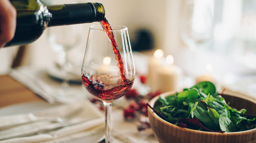
[[[57,105],[59,104],[49,104],[44,101],[18,103],[18,104],[13,104],[13,105],[0,108],[0,115],[3,116],[3,115],[30,113],[30,112],[35,112],[42,109],[51,108]],[[98,134],[67,141],[65,143],[97,143],[104,139],[104,134],[105,132],[101,131]]]

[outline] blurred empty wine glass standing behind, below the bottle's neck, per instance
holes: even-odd
[[[51,49],[59,56],[59,77],[63,79],[61,89],[53,93],[60,101],[74,100],[74,91],[69,86],[68,51],[79,45],[83,28],[80,24],[49,27],[48,41]]]

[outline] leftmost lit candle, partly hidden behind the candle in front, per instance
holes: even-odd
[[[156,70],[163,64],[163,51],[158,49],[155,51],[154,56],[150,58],[148,63],[148,78],[147,85],[155,88],[156,85]]]

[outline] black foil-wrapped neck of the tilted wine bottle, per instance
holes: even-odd
[[[105,17],[105,10],[100,3],[80,3],[47,6],[50,14],[49,26],[100,22]]]

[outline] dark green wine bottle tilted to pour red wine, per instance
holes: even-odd
[[[44,5],[40,0],[10,0],[17,11],[14,38],[5,47],[37,40],[50,26],[100,22],[105,10],[100,3]]]

